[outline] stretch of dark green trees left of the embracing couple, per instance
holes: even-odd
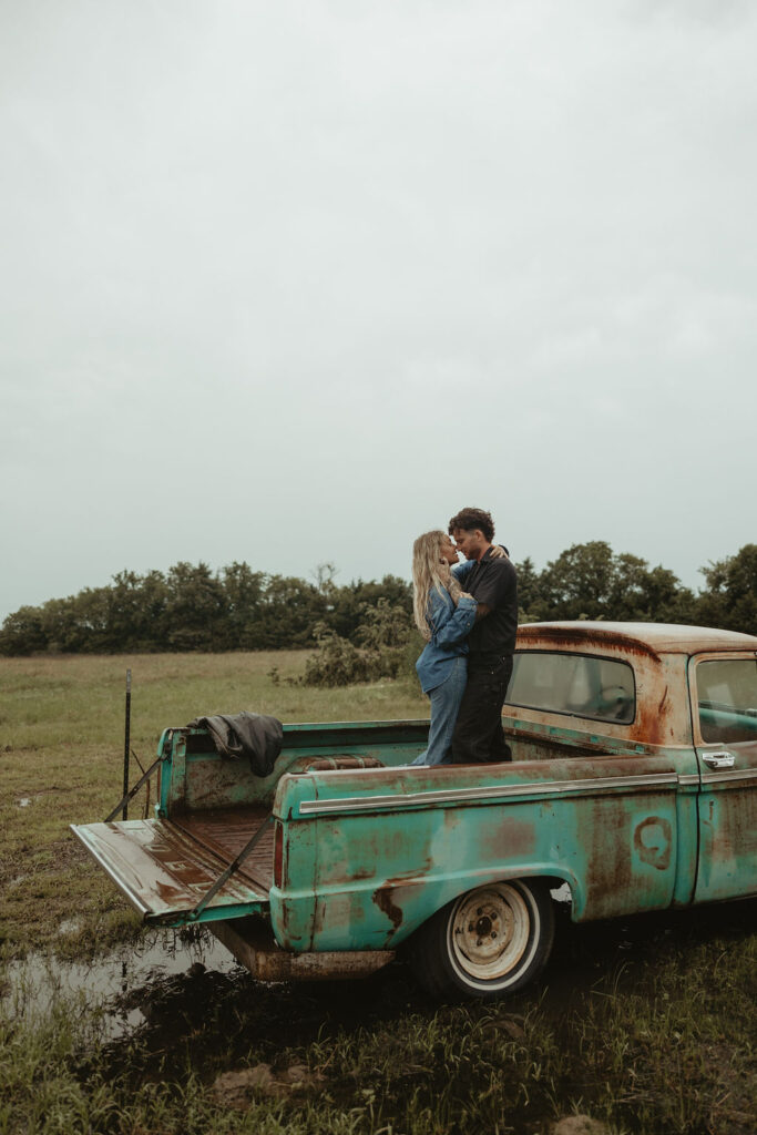
[[[0,631],[0,654],[120,654],[163,650],[276,650],[311,646],[321,624],[352,638],[379,598],[412,611],[405,580],[337,587],[326,564],[311,582],[233,563],[177,563],[144,575],[123,571],[106,587],[24,606]]]

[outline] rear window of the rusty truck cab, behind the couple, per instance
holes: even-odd
[[[589,654],[523,650],[513,659],[506,704],[629,725],[636,716],[633,667]]]

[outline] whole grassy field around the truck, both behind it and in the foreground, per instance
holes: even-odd
[[[143,763],[166,725],[199,714],[428,712],[410,684],[288,684],[304,658],[0,659],[0,1135],[547,1135],[572,1113],[613,1135],[754,1135],[755,902],[586,926],[562,916],[540,983],[496,1006],[429,1004],[398,964],[344,985],[182,974],[126,991],[149,1019],[118,1042],[93,997],[59,993],[24,1012],[32,991],[2,976],[11,958],[42,953],[54,970],[141,933],[68,834],[120,796],[127,666]],[[242,1100],[218,1094],[220,1074],[261,1065],[271,1082]],[[287,1086],[293,1068],[298,1087]]]

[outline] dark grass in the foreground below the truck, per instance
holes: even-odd
[[[110,1044],[75,999],[36,1022],[6,1006],[0,1132],[546,1135],[583,1112],[615,1135],[754,1135],[750,918],[742,903],[701,927],[647,919],[625,961],[626,931],[573,928],[540,990],[497,1006],[429,1006],[402,966],[340,987],[178,975],[153,990],[149,1026]],[[603,941],[607,964],[578,964]],[[218,1098],[219,1074],[262,1062],[270,1094]],[[293,1065],[300,1090],[285,1086]]]

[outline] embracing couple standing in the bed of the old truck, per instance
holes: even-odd
[[[413,765],[511,759],[502,707],[513,670],[518,583],[506,549],[493,540],[491,514],[463,508],[447,533],[426,532],[413,545],[413,612],[427,640],[415,669],[431,701],[428,748]]]

